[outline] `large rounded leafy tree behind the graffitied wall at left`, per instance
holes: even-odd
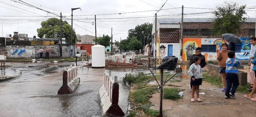
[[[42,28],[37,29],[37,36],[40,38],[60,38],[60,19],[50,18],[41,22]],[[66,39],[66,44],[71,44],[71,26],[66,22],[62,22],[63,38]],[[77,41],[75,31],[72,30],[72,44]]]

